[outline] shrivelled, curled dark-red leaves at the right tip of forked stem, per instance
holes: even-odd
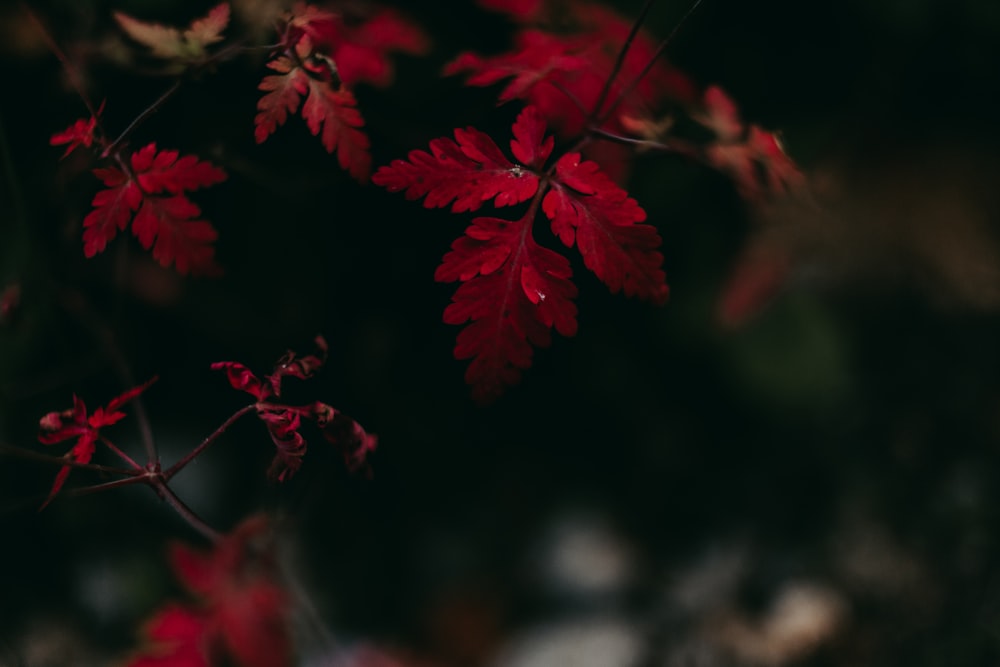
[[[302,467],[306,441],[299,429],[303,418],[311,420],[319,428],[323,438],[340,451],[347,468],[352,472],[368,471],[367,456],[378,444],[378,439],[367,433],[360,424],[325,403],[317,401],[304,406],[290,406],[273,400],[280,399],[281,381],[285,377],[305,380],[323,366],[327,345],[322,336],[316,338],[316,347],[318,354],[305,357],[287,352],[263,380],[235,361],[212,364],[213,370],[226,372],[229,384],[234,389],[245,391],[257,400],[257,416],[267,426],[276,449],[268,469],[268,477],[279,482],[291,478]]]

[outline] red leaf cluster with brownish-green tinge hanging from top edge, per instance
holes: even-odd
[[[281,50],[267,63],[276,72],[261,81],[254,136],[263,143],[295,114],[319,136],[342,169],[359,181],[371,172],[368,136],[351,88],[392,80],[391,51],[422,53],[423,33],[397,13],[381,9],[364,17],[329,12],[297,2],[284,16]],[[305,99],[303,103],[302,100]]]

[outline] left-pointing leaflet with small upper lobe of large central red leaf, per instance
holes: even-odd
[[[456,141],[432,140],[430,153],[410,151],[409,162],[393,160],[380,167],[372,182],[390,192],[403,191],[407,199],[426,197],[426,208],[452,204],[455,213],[475,211],[490,199],[495,206],[519,204],[538,191],[538,176],[529,167],[552,152],[551,137],[541,141],[544,129],[534,109],[518,116],[511,148],[527,167],[512,163],[489,135],[470,127],[455,130]]]

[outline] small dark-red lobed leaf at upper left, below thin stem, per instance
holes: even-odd
[[[212,273],[217,234],[198,220],[201,209],[185,192],[220,183],[226,173],[209,162],[177,151],[157,151],[151,143],[132,153],[128,165],[94,169],[106,189],[94,195],[94,210],[83,219],[83,253],[102,252],[132,223],[143,248],[163,266],[179,273]]]

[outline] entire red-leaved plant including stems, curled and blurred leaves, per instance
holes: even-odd
[[[300,1],[271,17],[275,43],[252,45],[225,35],[231,19],[227,3],[184,27],[116,12],[121,30],[156,59],[162,73],[175,79],[117,137],[104,126],[105,105],[95,107],[79,86],[89,114],[51,136],[51,145],[66,147],[63,158],[89,149],[97,160],[92,173],[103,188],[83,218],[84,255],[103,252],[131,228],[164,267],[180,274],[221,272],[215,261],[218,232],[190,197],[226,180],[227,171],[186,151],[134,138],[184,82],[254,49],[268,53],[252,117],[256,143],[268,141],[290,116],[300,114],[327,153],[336,153],[339,166],[359,182],[370,177],[391,192],[422,200],[425,208],[449,207],[453,213],[476,213],[487,205],[519,207],[509,215],[472,218],[434,274],[438,282],[459,283],[443,317],[463,327],[454,354],[469,360],[465,377],[479,401],[492,400],[518,382],[532,364],[534,349],[551,343],[553,330],[563,336],[576,334],[578,291],[571,260],[536,237],[550,238],[548,245],[575,247],[583,265],[612,293],[654,304],[667,300],[661,237],[622,185],[625,158],[653,151],[697,160],[729,175],[739,193],[761,207],[801,186],[802,177],[775,134],[744,123],[720,88],[699,91],[661,58],[669,38],[657,45],[642,29],[651,2],[634,22],[586,0],[478,4],[511,19],[512,46],[499,54],[463,52],[444,72],[464,75],[470,86],[499,84],[499,103],[517,100],[524,105],[509,143],[500,144],[475,127],[459,128],[453,138],[432,139],[428,150],[412,150],[406,159],[393,160],[373,175],[370,140],[355,88],[389,85],[394,77],[390,54],[422,54],[429,44],[423,31],[401,14],[362,3],[320,6]],[[69,69],[66,57],[57,54]],[[678,130],[675,121],[682,115],[698,130],[693,134],[707,134],[707,139]],[[248,111],[248,136],[250,117]],[[213,159],[226,164],[224,157]],[[723,311],[732,320],[743,317],[761,292],[780,282],[787,264],[783,258],[766,259],[770,271],[749,272],[750,279],[741,280],[742,289],[724,300]],[[20,295],[19,284],[3,293],[0,323],[10,320]],[[205,551],[171,548],[172,569],[192,599],[168,603],[156,612],[146,625],[146,644],[131,657],[129,667],[290,664],[290,603],[269,548],[268,521],[254,517],[221,535],[181,501],[170,483],[233,423],[251,413],[263,422],[275,447],[268,467],[272,481],[288,481],[299,471],[307,451],[303,433],[308,435],[313,426],[337,448],[349,470],[370,472],[368,456],[377,446],[376,436],[327,403],[293,405],[282,396],[286,378],[307,380],[325,364],[326,341],[317,337],[315,343],[314,354],[288,352],[266,375],[239,362],[213,363],[211,368],[225,372],[232,388],[253,400],[168,467],[161,463],[141,410],[136,413],[142,422],[144,464],[104,435],[125,417],[123,406],[155,378],[93,413],[74,395],[71,409],[41,419],[42,444],[73,441],[62,457],[31,455],[59,466],[42,507],[60,493],[142,483],[212,542]],[[98,442],[127,467],[92,463]],[[64,491],[74,467],[120,479]]]

